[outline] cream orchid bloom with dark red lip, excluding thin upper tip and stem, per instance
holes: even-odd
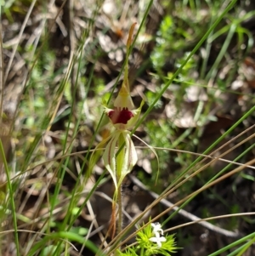
[[[110,118],[116,130],[111,134],[106,145],[103,160],[116,189],[121,185],[125,176],[131,172],[138,160],[128,129],[132,128],[138,121],[143,105],[144,101],[138,109],[133,110],[133,100],[127,91],[126,83],[123,82],[120,93],[114,102],[114,109],[105,107],[105,114]],[[123,145],[124,148],[122,148]],[[116,148],[120,149],[117,156]]]

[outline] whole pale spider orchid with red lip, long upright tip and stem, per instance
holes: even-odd
[[[133,100],[130,96],[129,82],[128,82],[128,54],[129,47],[131,45],[133,28],[135,24],[131,26],[129,31],[129,36],[127,39],[127,59],[125,65],[124,79],[122,82],[122,88],[114,101],[113,109],[105,107],[105,114],[109,117],[115,130],[111,135],[104,139],[96,147],[97,149],[102,149],[105,144],[105,151],[103,154],[103,160],[105,162],[105,168],[111,174],[115,185],[115,193],[112,202],[112,217],[111,217],[111,227],[113,229],[112,234],[114,236],[116,231],[116,202],[119,205],[119,224],[118,232],[122,229],[122,196],[121,188],[122,181],[127,174],[131,172],[133,166],[138,160],[135,147],[130,135],[130,129],[133,128],[135,123],[139,119],[139,115],[144,105],[144,100],[142,100],[138,109],[134,110]],[[93,157],[91,157],[93,159]],[[92,160],[93,161],[93,160]]]

